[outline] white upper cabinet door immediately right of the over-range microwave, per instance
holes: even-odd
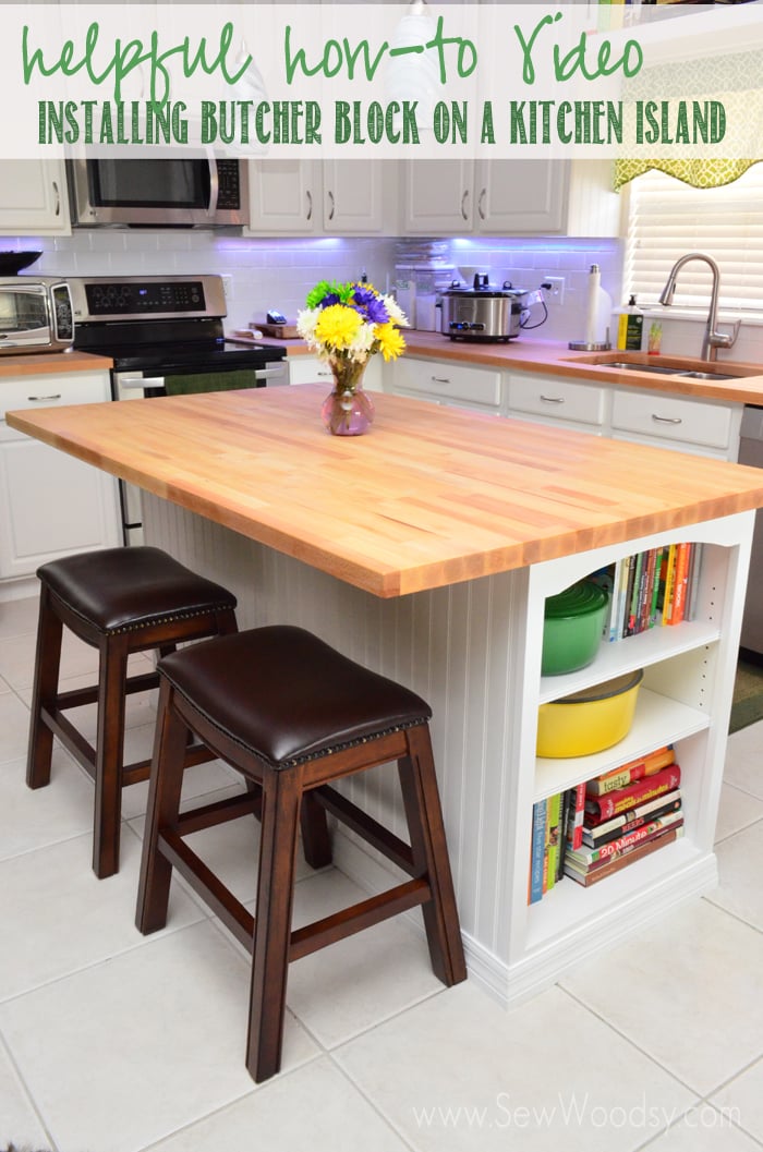
[[[248,234],[320,232],[320,172],[312,160],[251,160]]]

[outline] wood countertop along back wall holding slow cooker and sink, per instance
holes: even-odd
[[[537,372],[544,376],[571,377],[589,382],[617,384],[624,388],[649,389],[671,395],[696,396],[730,403],[763,406],[763,364],[732,359],[705,363],[694,356],[650,356],[648,353],[574,353],[566,343],[554,340],[520,336],[505,343],[448,340],[439,332],[407,331],[406,355],[420,359],[450,361],[501,371]],[[288,356],[315,356],[303,340],[270,340],[259,343],[281,344]],[[705,369],[711,372],[739,373],[733,380],[696,380],[682,376],[660,376],[645,371],[612,369],[612,361],[637,361],[644,365]]]

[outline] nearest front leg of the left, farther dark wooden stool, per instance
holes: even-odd
[[[127,657],[127,637],[108,636],[101,641],[92,843],[92,867],[99,879],[119,871]]]

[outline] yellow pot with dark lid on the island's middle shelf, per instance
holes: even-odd
[[[642,668],[538,708],[537,755],[552,759],[590,756],[611,748],[630,732]]]

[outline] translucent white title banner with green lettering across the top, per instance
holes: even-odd
[[[6,158],[750,158],[757,5],[3,5]],[[749,78],[751,77],[751,79]]]

